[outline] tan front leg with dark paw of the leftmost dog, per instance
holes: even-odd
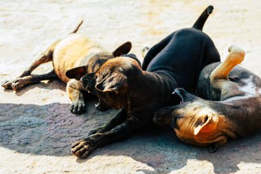
[[[82,85],[78,80],[73,79],[67,83],[66,91],[72,102],[70,107],[72,113],[83,113],[86,109],[84,96],[80,89],[82,89]]]

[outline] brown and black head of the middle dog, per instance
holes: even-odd
[[[80,82],[84,89],[98,96],[100,103],[121,109],[128,105],[130,84],[137,80],[139,73],[142,70],[136,58],[120,56],[106,61],[97,72],[80,78]]]

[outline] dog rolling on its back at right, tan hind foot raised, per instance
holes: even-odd
[[[261,80],[236,66],[244,59],[240,47],[229,47],[223,63],[212,63],[198,78],[198,98],[175,89],[172,103],[155,113],[153,122],[170,126],[177,137],[189,144],[209,146],[215,152],[227,140],[244,137],[261,127]]]

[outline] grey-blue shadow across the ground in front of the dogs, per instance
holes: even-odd
[[[71,113],[69,104],[0,104],[0,146],[19,153],[71,155],[73,142],[85,138],[91,129],[100,127],[117,113],[115,110],[97,111],[95,102],[89,101],[87,113],[81,115]],[[128,140],[96,149],[87,159],[78,158],[77,162],[88,162],[97,155],[126,155],[152,168],[138,170],[144,173],[170,173],[185,169],[190,162],[200,165],[201,161],[212,165],[215,173],[232,173],[240,169],[240,164],[260,164],[260,151],[261,131],[230,142],[216,153],[209,153],[207,148],[181,142],[168,129],[150,126]],[[194,167],[198,169],[198,166]]]

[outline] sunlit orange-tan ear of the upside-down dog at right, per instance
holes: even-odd
[[[199,132],[209,133],[216,129],[218,124],[218,116],[208,113],[196,118],[194,122],[193,129],[194,135],[197,135]]]

